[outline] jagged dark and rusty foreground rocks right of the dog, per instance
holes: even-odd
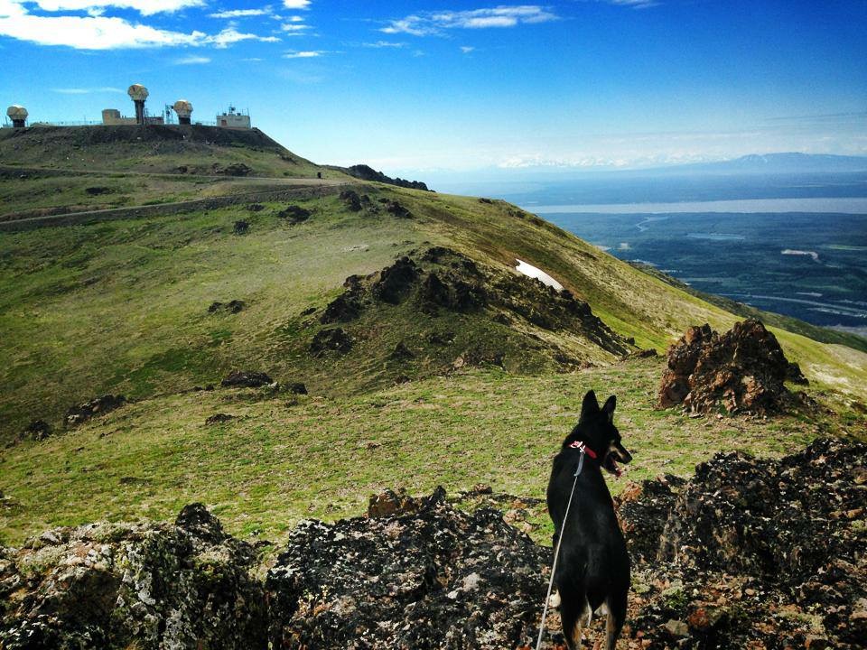
[[[649,650],[864,647],[865,463],[867,445],[820,440],[782,460],[720,453],[685,485],[635,487],[620,505],[631,636]]]

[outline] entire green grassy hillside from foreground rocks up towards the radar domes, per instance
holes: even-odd
[[[45,133],[57,150],[19,148],[4,163],[61,165],[57,151],[78,136]],[[162,172],[204,165],[213,145],[160,143],[133,138],[96,175],[7,174],[0,192],[23,210],[51,208],[53,190],[54,208],[121,196],[129,206],[277,182],[174,181]],[[219,144],[213,155],[266,171],[293,164],[269,147]],[[112,190],[88,192],[95,178]],[[736,314],[503,201],[353,182],[297,200],[0,229],[0,441],[36,418],[61,433],[0,452],[6,541],[44,525],[168,516],[193,499],[236,532],[276,534],[304,515],[358,512],[378,487],[489,481],[541,494],[589,387],[619,395],[636,477],[685,473],[732,446],[782,453],[821,432],[865,435],[861,351],[773,328],[827,412],[770,422],[656,412],[661,359],[622,357],[664,351],[692,324],[727,329]],[[517,259],[569,293],[517,274]],[[280,386],[219,387],[232,370]],[[310,395],[294,395],[296,382]],[[196,389],[207,385],[217,388]],[[64,431],[71,405],[107,393],[132,403]],[[234,419],[206,425],[215,413]]]

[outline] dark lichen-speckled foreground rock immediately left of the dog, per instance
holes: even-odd
[[[550,551],[442,490],[407,515],[305,522],[268,572],[285,648],[514,648],[529,643]]]

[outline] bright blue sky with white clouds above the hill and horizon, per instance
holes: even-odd
[[[390,173],[867,154],[865,0],[0,0],[33,120],[229,103]]]

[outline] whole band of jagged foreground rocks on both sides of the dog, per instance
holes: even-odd
[[[819,440],[627,487],[629,648],[864,647],[865,467],[867,445]],[[368,517],[303,522],[264,579],[256,549],[200,504],[174,525],[58,528],[0,549],[0,647],[523,648],[551,549],[516,518],[462,512],[442,489],[386,491]],[[545,650],[558,625],[553,613]]]

